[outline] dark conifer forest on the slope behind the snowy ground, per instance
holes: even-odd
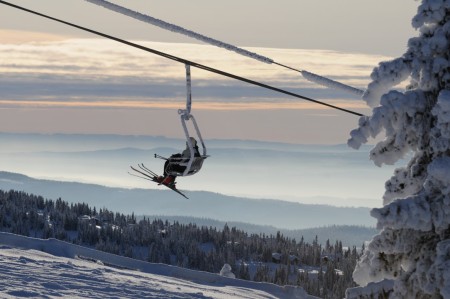
[[[97,210],[61,198],[44,199],[0,190],[0,230],[56,238],[109,253],[193,270],[219,273],[225,264],[239,279],[299,285],[322,298],[343,298],[355,286],[352,272],[364,250],[342,242],[319,244],[277,234],[248,234]]]

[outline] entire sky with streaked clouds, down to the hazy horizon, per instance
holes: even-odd
[[[16,0],[82,26],[138,41],[304,96],[369,113],[353,95],[82,0]],[[245,47],[277,62],[364,89],[378,62],[416,35],[415,1],[114,1]],[[0,127],[5,132],[180,136],[184,66],[0,6]],[[395,30],[393,30],[395,28]],[[192,70],[193,114],[204,136],[345,143],[358,117]]]

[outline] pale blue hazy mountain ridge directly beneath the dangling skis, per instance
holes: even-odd
[[[189,216],[219,221],[304,229],[332,225],[375,225],[369,208],[306,205],[270,199],[249,199],[191,191],[186,200],[166,190],[110,188],[94,184],[33,179],[0,172],[0,189],[18,190],[48,199],[84,202],[91,206],[136,215]]]

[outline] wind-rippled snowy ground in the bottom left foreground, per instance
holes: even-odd
[[[218,274],[150,264],[76,246],[0,233],[2,298],[314,298]]]

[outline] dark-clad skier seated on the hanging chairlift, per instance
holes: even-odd
[[[189,137],[189,140],[191,141],[192,147],[194,149],[194,157],[200,157],[201,155],[198,149],[197,140],[195,140],[194,137]],[[169,163],[172,163],[170,166],[171,172],[175,171],[183,173],[186,169],[186,166],[179,165],[178,163],[189,161],[190,157],[191,151],[189,149],[189,143],[186,141],[186,149],[181,154],[180,153],[173,154],[170,156],[169,159],[166,160],[166,162],[164,163],[164,170],[163,170],[164,175],[159,176],[157,178],[158,182],[164,185],[175,186],[176,176],[168,173]]]

